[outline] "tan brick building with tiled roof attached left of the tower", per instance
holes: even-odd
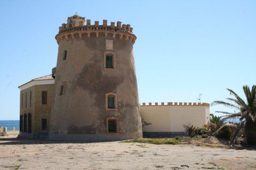
[[[51,75],[33,79],[19,86],[20,135],[47,137],[53,100],[54,79]]]

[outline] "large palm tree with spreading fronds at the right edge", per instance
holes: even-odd
[[[239,130],[244,126],[246,142],[249,145],[256,145],[256,86],[253,85],[252,89],[248,86],[243,86],[246,101],[239,97],[233,90],[227,90],[230,92],[231,96],[234,96],[234,98],[227,98],[228,101],[213,101],[211,106],[223,105],[238,110],[237,113],[217,111],[217,113],[223,113],[226,115],[223,120],[238,117],[241,122],[237,127],[233,138],[231,138],[230,143],[232,144],[234,142]]]

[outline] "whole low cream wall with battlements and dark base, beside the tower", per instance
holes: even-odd
[[[144,137],[174,137],[186,135],[183,125],[199,128],[210,122],[210,104],[207,103],[143,103],[140,106]]]

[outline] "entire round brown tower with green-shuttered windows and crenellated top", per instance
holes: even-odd
[[[142,138],[129,24],[74,15],[59,27],[49,139],[113,141]]]

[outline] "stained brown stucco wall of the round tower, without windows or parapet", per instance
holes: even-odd
[[[106,49],[113,40],[113,50]],[[63,53],[67,50],[67,58]],[[105,69],[106,51],[116,53],[116,68]],[[60,41],[51,115],[52,140],[103,141],[142,137],[133,45],[125,37],[91,33]],[[64,86],[60,96],[60,86]],[[116,111],[106,111],[105,94],[117,94]],[[107,117],[119,118],[119,131],[108,134]],[[92,135],[97,134],[97,135]],[[97,137],[98,136],[98,137]]]

